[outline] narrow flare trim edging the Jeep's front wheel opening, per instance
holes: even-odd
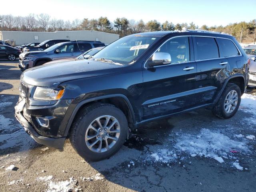
[[[73,122],[73,120],[74,120],[74,118],[75,118],[75,116],[76,116],[78,110],[79,110],[84,104],[89,103],[89,102],[92,102],[92,101],[96,101],[96,100],[107,99],[107,98],[113,98],[113,97],[121,97],[121,98],[123,98],[123,99],[125,100],[125,102],[126,102],[128,108],[129,108],[129,110],[130,110],[130,113],[131,113],[131,115],[132,115],[132,121],[133,121],[134,124],[136,124],[136,117],[135,117],[135,115],[134,115],[134,110],[133,110],[132,104],[130,103],[130,101],[128,100],[128,98],[127,98],[125,95],[123,95],[123,94],[108,94],[108,95],[97,96],[97,97],[88,98],[88,99],[85,99],[85,100],[80,101],[80,102],[76,105],[76,107],[74,108],[74,110],[73,110],[73,112],[72,112],[72,114],[71,114],[71,116],[70,116],[70,118],[69,118],[69,120],[68,120],[68,124],[67,124],[67,126],[66,126],[66,129],[65,129],[65,132],[64,132],[64,135],[63,135],[63,136],[64,136],[64,137],[68,136],[68,132],[69,132],[69,130],[70,130],[70,127],[71,127],[71,125],[72,125],[72,122]]]

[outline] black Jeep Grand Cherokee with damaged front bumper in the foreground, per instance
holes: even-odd
[[[63,150],[69,136],[87,160],[116,153],[128,127],[202,107],[232,117],[248,84],[248,58],[233,36],[147,32],[88,60],[23,72],[16,118],[37,142]]]

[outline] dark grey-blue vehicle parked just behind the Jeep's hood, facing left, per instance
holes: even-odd
[[[20,70],[40,66],[46,62],[76,58],[81,52],[102,46],[100,41],[70,41],[55,44],[44,51],[24,52],[20,54]]]

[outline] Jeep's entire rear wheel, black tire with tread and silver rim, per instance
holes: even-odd
[[[230,95],[229,95],[230,93]],[[234,98],[234,102],[236,102],[236,98],[234,97],[237,94],[237,102],[235,103],[236,106],[232,103],[232,101],[228,101],[229,98]],[[235,94],[236,93],[236,94]],[[229,96],[228,96],[229,95]],[[230,97],[231,96],[231,97]],[[226,100],[227,98],[227,100]],[[229,102],[231,103],[230,111],[228,112],[228,108],[230,106]],[[222,92],[222,95],[220,96],[218,102],[213,107],[212,111],[213,113],[218,116],[219,118],[228,119],[234,116],[236,114],[241,102],[241,90],[238,87],[238,85],[234,83],[228,83],[226,85],[226,88]]]

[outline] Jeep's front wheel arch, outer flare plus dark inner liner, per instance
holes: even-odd
[[[127,118],[128,124],[130,126],[134,126],[136,124],[136,117],[134,115],[134,110],[133,110],[132,104],[130,103],[128,98],[123,94],[109,94],[109,95],[104,95],[104,96],[88,98],[88,99],[80,101],[76,105],[76,107],[74,108],[74,110],[70,116],[70,119],[68,121],[68,124],[67,124],[65,132],[64,132],[64,136],[68,136],[70,127],[71,127],[76,115],[78,114],[79,110],[81,110],[82,108],[84,108],[94,102],[104,102],[104,103],[113,104],[114,106],[116,106],[117,108],[122,110],[122,112],[124,112],[124,114]]]

